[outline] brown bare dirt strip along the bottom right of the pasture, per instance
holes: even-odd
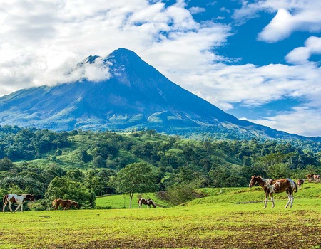
[[[90,242],[88,244],[64,245],[68,248],[320,248],[321,227],[305,226],[300,228],[295,226],[250,226],[239,228],[235,227],[220,228],[233,235],[215,234],[218,227],[213,226],[213,236],[199,238],[195,236],[169,236],[153,239],[133,238],[133,236],[115,239],[102,238],[102,240]],[[46,248],[59,248],[59,245],[49,245]]]

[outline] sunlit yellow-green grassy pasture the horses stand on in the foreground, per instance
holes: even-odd
[[[204,191],[171,208],[106,196],[97,206],[111,209],[0,213],[0,248],[321,248],[321,184],[305,184],[291,209],[278,194],[263,210],[258,188]]]

